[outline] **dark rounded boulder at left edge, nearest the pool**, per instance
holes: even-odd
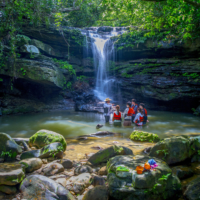
[[[4,152],[6,158],[15,158],[22,153],[22,148],[6,133],[0,133],[0,155]]]

